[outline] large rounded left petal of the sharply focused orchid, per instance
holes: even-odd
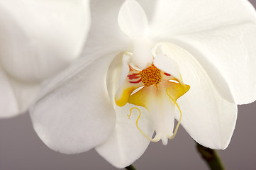
[[[106,70],[115,55],[91,63],[82,57],[45,84],[31,117],[48,147],[67,154],[85,152],[111,134],[116,114],[106,91]]]

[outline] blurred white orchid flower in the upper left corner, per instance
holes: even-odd
[[[79,57],[87,0],[0,1],[0,118],[28,110],[44,79]]]

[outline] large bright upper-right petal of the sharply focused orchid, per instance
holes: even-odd
[[[150,38],[188,50],[226,100],[255,101],[256,14],[248,1],[163,0],[155,6]]]

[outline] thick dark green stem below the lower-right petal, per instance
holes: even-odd
[[[208,147],[203,147],[200,144],[197,144],[196,147],[198,152],[201,154],[201,157],[208,164],[211,170],[225,170],[218,152]]]

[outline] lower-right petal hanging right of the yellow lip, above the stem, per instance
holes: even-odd
[[[225,149],[235,128],[237,106],[218,94],[204,68],[189,52],[176,45],[169,47],[169,57],[179,65],[184,84],[191,86],[177,101],[183,114],[182,125],[201,145]]]

